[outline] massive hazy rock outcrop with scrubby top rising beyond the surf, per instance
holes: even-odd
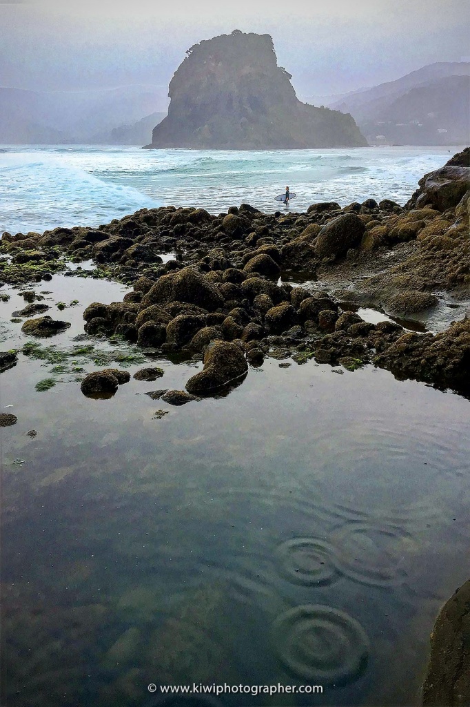
[[[361,147],[351,115],[301,103],[270,35],[234,30],[191,47],[147,148]]]

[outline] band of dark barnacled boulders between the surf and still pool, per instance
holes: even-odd
[[[203,360],[186,384],[196,397],[241,382],[248,364],[265,357],[349,370],[373,363],[397,378],[468,394],[470,319],[433,333],[410,331],[400,317],[468,307],[469,152],[425,175],[404,207],[367,199],[263,214],[241,204],[215,215],[164,206],[99,228],[4,233],[0,280],[24,286],[64,269],[61,255],[92,258],[92,276],[120,279],[133,291],[123,302],[90,304],[85,332]],[[167,252],[175,259],[163,262]],[[289,277],[308,284],[292,286]],[[356,310],[371,304],[395,320],[364,321]],[[42,313],[38,306],[25,316]],[[32,317],[23,331],[49,336],[66,325]]]

